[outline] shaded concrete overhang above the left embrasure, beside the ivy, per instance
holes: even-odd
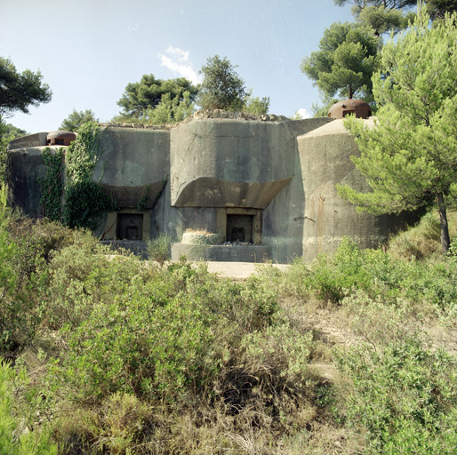
[[[170,172],[170,132],[101,127],[99,150],[93,180],[121,208],[152,208]]]

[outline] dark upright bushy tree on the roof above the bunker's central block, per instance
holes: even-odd
[[[198,104],[204,109],[241,110],[245,105],[245,81],[237,75],[236,66],[219,55],[210,57],[200,70],[204,80]]]

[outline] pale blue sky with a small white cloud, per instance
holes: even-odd
[[[333,0],[0,0],[0,57],[39,70],[52,90],[51,102],[6,122],[50,132],[73,109],[108,122],[127,84],[144,74],[201,82],[216,54],[253,96],[269,97],[271,114],[306,117],[320,99],[301,59],[346,20],[350,5]]]

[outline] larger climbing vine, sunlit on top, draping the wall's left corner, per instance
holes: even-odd
[[[96,228],[102,212],[113,210],[114,202],[100,183],[92,181],[99,153],[97,122],[88,122],[78,130],[67,148],[65,206],[63,220],[70,228]]]

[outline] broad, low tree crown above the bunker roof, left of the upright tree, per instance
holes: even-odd
[[[184,100],[184,93],[188,92],[189,99],[195,100],[198,88],[192,85],[188,79],[156,79],[154,75],[143,75],[140,82],[127,84],[122,98],[117,105],[123,110],[121,116],[140,118],[144,116],[148,108],[156,108],[166,93],[170,99]]]

